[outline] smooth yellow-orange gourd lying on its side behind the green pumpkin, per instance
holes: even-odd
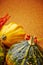
[[[22,26],[17,25],[14,22],[10,22],[4,25],[1,30],[1,41],[8,47],[13,43],[24,39],[25,32]]]

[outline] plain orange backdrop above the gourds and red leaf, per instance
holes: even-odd
[[[43,37],[43,0],[0,0],[0,17],[11,15],[8,22],[16,22],[26,33]]]

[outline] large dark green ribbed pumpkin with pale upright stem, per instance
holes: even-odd
[[[7,65],[43,65],[43,54],[34,43],[34,38],[10,47],[6,56]]]

